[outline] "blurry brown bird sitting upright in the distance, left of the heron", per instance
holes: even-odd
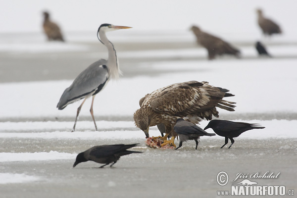
[[[64,41],[61,30],[57,24],[50,21],[49,12],[43,12],[44,23],[43,29],[49,41]]]

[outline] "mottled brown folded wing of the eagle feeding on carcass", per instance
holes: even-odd
[[[212,119],[212,115],[218,117],[215,107],[220,107],[221,101],[225,102],[222,100],[224,96],[224,92],[208,85],[207,82],[189,81],[156,90],[147,97],[147,102],[158,113],[179,117],[198,115],[201,118]],[[234,105],[230,105],[225,109],[234,110],[233,107]]]

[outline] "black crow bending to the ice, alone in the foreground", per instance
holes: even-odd
[[[133,150],[126,150],[128,148],[132,148],[137,146],[138,144],[132,145],[102,145],[102,146],[95,146],[89,148],[88,150],[79,153],[76,156],[76,160],[73,164],[75,167],[77,164],[86,161],[95,161],[100,164],[104,164],[99,168],[102,168],[110,163],[110,167],[119,160],[119,158],[123,155],[131,154],[131,153],[142,153],[141,151],[133,151]]]

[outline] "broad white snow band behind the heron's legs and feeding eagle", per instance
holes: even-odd
[[[212,86],[230,90],[237,102],[236,113],[297,112],[296,59],[221,59],[214,61],[166,61],[142,67],[169,70],[162,76],[138,76],[111,81],[96,97],[96,116],[131,116],[139,108],[139,99],[167,85],[189,80],[208,81]],[[281,72],[281,73],[280,73]],[[124,74],[125,75],[125,74]],[[228,80],[226,80],[228,79]],[[0,93],[7,93],[0,103],[0,118],[74,117],[80,102],[62,111],[55,108],[63,91],[72,81],[2,83]],[[146,88],[146,89],[144,89]],[[131,91],[132,90],[132,91]],[[281,91],[281,94],[279,92]],[[120,100],[118,97],[120,96]],[[91,99],[80,115],[89,116]],[[112,106],[112,109],[110,109]],[[116,110],[115,110],[116,109]],[[222,113],[233,113],[221,110]]]

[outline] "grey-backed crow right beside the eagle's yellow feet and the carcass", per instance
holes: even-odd
[[[183,142],[186,142],[187,140],[195,140],[195,149],[197,149],[198,139],[200,138],[200,136],[215,136],[214,133],[207,133],[206,131],[203,131],[203,129],[198,127],[196,124],[188,122],[183,118],[179,118],[176,120],[176,124],[173,127],[173,129],[178,134],[180,140],[178,148],[180,148],[183,145]]]

